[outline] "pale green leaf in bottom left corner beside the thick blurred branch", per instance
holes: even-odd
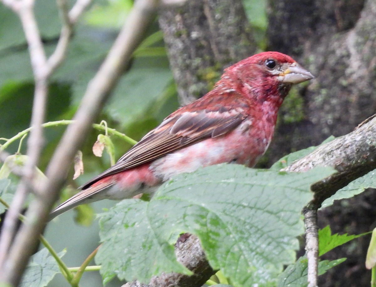
[[[59,252],[63,257],[67,251]],[[21,287],[44,287],[52,280],[55,274],[60,273],[58,263],[50,255],[47,248],[43,248],[32,256],[29,265],[23,275]]]

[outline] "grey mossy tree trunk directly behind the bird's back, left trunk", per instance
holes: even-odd
[[[210,91],[224,68],[255,52],[240,0],[169,6],[161,9],[159,25],[183,105]]]

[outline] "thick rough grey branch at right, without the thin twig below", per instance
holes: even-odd
[[[334,167],[338,172],[314,185],[312,207],[321,203],[351,181],[376,168],[376,115],[350,134],[318,147],[314,152],[286,167],[287,172],[304,172],[315,166]]]

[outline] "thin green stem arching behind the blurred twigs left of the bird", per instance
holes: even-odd
[[[49,128],[49,127],[52,127],[52,126],[67,126],[67,125],[69,125],[73,122],[74,122],[73,120],[49,121],[48,123],[44,123],[42,125],[42,127],[43,128]],[[102,125],[99,125],[99,124],[93,124],[93,128],[95,128],[99,131],[106,131],[105,127],[102,126]],[[9,138],[4,144],[2,144],[0,146],[0,150],[5,150],[11,143],[18,140],[19,138],[22,138],[24,135],[29,133],[31,130],[32,130],[32,127],[27,128],[27,129],[23,130],[22,132],[19,132],[14,137]],[[130,137],[127,137],[126,135],[122,134],[121,132],[116,131],[115,129],[107,128],[107,131],[112,135],[116,135],[117,137],[120,137],[121,139],[123,139],[127,143],[130,143],[132,145],[137,143],[137,141],[133,140]],[[4,139],[4,138],[2,138],[2,139]]]

